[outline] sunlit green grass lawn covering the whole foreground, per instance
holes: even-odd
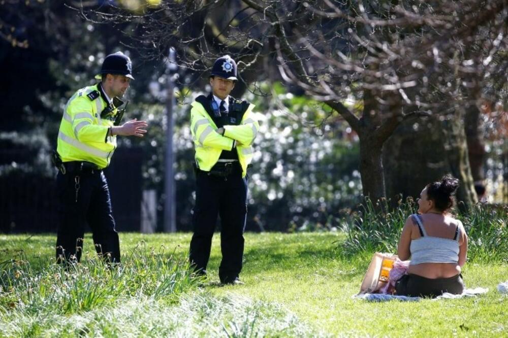
[[[182,282],[175,284],[180,287],[161,288],[166,280],[157,279],[156,271],[164,265],[142,257],[153,251],[152,255],[183,266],[189,240],[188,233],[122,233],[122,254],[130,257],[123,262],[128,264],[131,259],[137,263],[131,275],[111,279],[111,285],[125,285],[125,291],[111,289],[114,296],[102,294],[104,299],[99,299],[97,306],[88,301],[85,306],[80,303],[63,311],[51,304],[67,304],[70,300],[58,300],[50,292],[45,298],[34,296],[37,290],[27,291],[26,297],[20,292],[24,302],[13,300],[16,290],[10,290],[9,299],[5,296],[9,292],[0,294],[0,336],[508,336],[508,297],[496,289],[499,282],[508,279],[506,263],[473,261],[465,265],[466,286],[489,288],[486,295],[371,303],[352,298],[359,290],[371,253],[345,257],[340,248],[344,240],[341,233],[248,233],[241,274],[246,284],[226,287],[218,286],[220,246],[216,234],[208,267],[210,276],[204,286],[182,275]],[[54,242],[54,235],[0,235],[0,261],[22,249],[32,273],[37,275],[48,268]],[[93,263],[89,235],[84,251],[92,263],[82,265],[90,274],[97,271],[86,284],[93,287],[94,280],[101,276],[108,279],[109,275],[101,271],[102,264]],[[143,264],[146,269],[139,266]],[[167,276],[176,271],[163,270]],[[75,276],[73,279],[79,280]],[[66,280],[62,285],[68,284]],[[22,289],[23,285],[18,287]],[[108,290],[107,285],[104,287]],[[88,298],[85,295],[83,299]]]

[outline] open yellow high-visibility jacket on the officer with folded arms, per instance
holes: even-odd
[[[202,104],[195,101],[191,106],[190,131],[196,149],[196,163],[200,170],[210,171],[223,150],[236,148],[242,166],[242,177],[245,177],[247,165],[252,161],[252,143],[259,130],[259,123],[252,112],[255,106],[249,105],[239,125],[225,125],[224,136],[216,132],[217,125]]]

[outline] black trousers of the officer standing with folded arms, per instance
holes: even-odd
[[[196,174],[196,207],[194,234],[190,241],[190,263],[196,271],[206,274],[212,236],[220,216],[220,250],[222,260],[219,278],[222,283],[235,280],[242,269],[243,231],[247,216],[247,177],[237,170],[228,177]]]

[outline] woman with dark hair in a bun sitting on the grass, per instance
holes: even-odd
[[[407,218],[397,247],[399,259],[411,257],[408,275],[395,284],[398,295],[436,297],[464,290],[467,235],[462,222],[448,214],[459,180],[444,176],[428,184],[418,200],[419,215]]]

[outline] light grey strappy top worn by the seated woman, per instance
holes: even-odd
[[[409,265],[421,263],[458,263],[459,262],[459,238],[460,228],[457,225],[455,239],[428,236],[423,227],[422,220],[418,215],[411,215],[422,235],[417,240],[412,240],[409,246],[411,261]]]

